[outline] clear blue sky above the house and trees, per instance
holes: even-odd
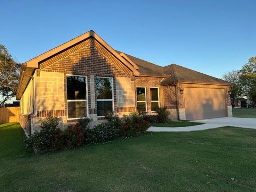
[[[255,0],[6,0],[0,44],[26,62],[92,29],[135,57],[221,77],[256,56],[255,10]]]

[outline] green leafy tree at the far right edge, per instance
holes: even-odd
[[[256,57],[251,57],[240,72],[243,92],[256,104]]]

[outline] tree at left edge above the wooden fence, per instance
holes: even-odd
[[[7,48],[0,44],[0,107],[16,95],[20,64],[12,59]]]

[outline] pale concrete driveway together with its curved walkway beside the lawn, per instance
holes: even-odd
[[[150,127],[151,132],[188,132],[213,129],[224,126],[256,129],[256,118],[221,117],[213,119],[196,120],[193,122],[205,123],[188,127]]]

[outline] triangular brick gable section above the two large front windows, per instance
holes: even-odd
[[[40,69],[77,75],[132,76],[128,68],[92,38],[45,60]]]

